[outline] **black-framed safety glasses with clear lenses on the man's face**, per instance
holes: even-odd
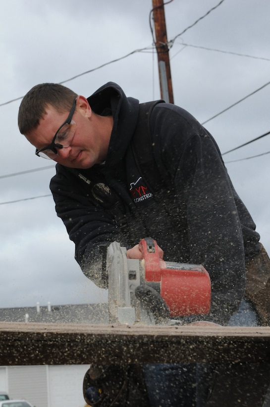
[[[57,148],[65,148],[70,145],[76,131],[76,123],[74,122],[74,120],[72,120],[72,116],[76,108],[76,101],[77,98],[75,98],[73,102],[67,119],[55,133],[51,144],[47,145],[44,148],[41,148],[40,150],[36,149],[36,155],[47,159],[54,159],[57,155]]]

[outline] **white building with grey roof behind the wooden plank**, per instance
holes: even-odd
[[[106,304],[0,309],[2,322],[105,324]],[[90,363],[90,362],[89,362]],[[82,393],[89,365],[0,366],[0,391],[35,407],[85,407]]]

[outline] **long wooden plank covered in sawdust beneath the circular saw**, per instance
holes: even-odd
[[[0,365],[270,362],[270,328],[0,323]]]

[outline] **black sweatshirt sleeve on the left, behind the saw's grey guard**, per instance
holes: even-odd
[[[84,274],[101,288],[108,288],[108,275],[103,267],[107,247],[117,241],[127,247],[126,239],[109,211],[94,204],[80,181],[66,169],[56,166],[52,178],[55,210],[75,243],[75,259]]]

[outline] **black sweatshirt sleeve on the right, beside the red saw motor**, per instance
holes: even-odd
[[[213,137],[185,114],[180,127],[176,125],[179,113],[170,114],[170,120],[157,120],[160,154],[173,179],[178,204],[185,207],[190,263],[202,264],[211,278],[210,313],[194,319],[226,324],[245,291],[241,223]],[[165,128],[168,122],[170,126]]]

